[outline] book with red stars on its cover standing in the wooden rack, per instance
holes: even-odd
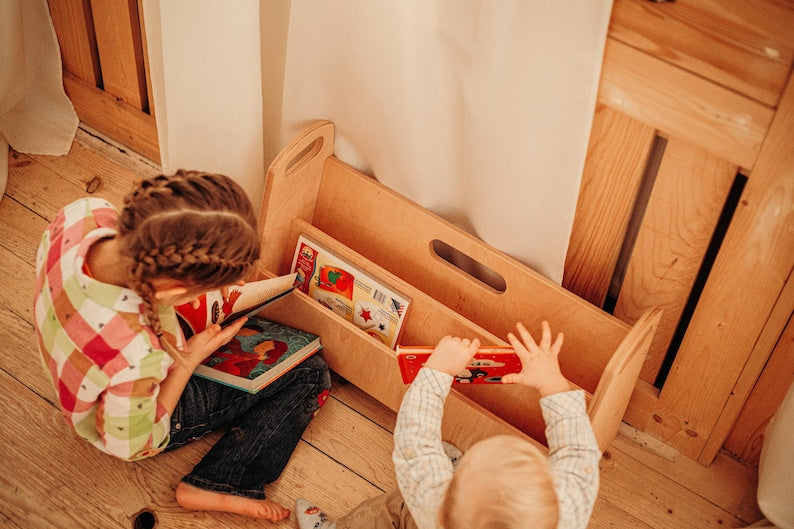
[[[394,349],[411,300],[306,235],[292,259],[296,288]]]

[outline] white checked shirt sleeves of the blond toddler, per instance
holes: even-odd
[[[438,529],[453,468],[441,444],[444,401],[452,377],[422,368],[403,397],[394,429],[394,468],[405,505],[419,529]],[[598,493],[598,449],[582,390],[540,399],[549,463],[559,501],[558,529],[587,527]],[[466,457],[465,454],[463,456]]]

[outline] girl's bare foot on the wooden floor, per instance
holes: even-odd
[[[271,522],[289,517],[289,509],[272,500],[253,500],[234,494],[213,492],[183,482],[176,488],[176,501],[185,509],[193,511],[233,512]]]

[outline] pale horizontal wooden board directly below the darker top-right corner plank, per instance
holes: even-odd
[[[773,111],[608,38],[598,100],[665,135],[752,168]]]

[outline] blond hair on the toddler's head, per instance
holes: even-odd
[[[439,517],[445,529],[557,527],[548,458],[518,437],[476,443],[455,470]]]

